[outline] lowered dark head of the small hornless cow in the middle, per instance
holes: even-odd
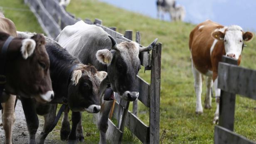
[[[97,71],[94,66],[79,64],[72,72],[68,87],[68,105],[74,112],[87,111],[97,113],[99,105],[100,84],[106,78],[105,71]]]

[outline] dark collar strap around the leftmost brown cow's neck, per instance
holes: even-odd
[[[6,59],[7,59],[7,49],[10,45],[10,42],[14,39],[14,37],[9,36],[5,43],[2,46],[1,53],[0,53],[0,96],[2,96],[2,93],[4,91],[5,83],[6,83]],[[1,103],[1,102],[0,102]],[[0,104],[0,110],[2,109],[2,106]]]

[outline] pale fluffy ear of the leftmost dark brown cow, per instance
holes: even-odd
[[[34,49],[36,48],[36,42],[33,39],[23,39],[21,46],[21,54],[24,59],[27,59],[34,53]]]

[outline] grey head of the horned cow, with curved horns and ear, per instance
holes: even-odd
[[[140,47],[135,42],[116,44],[113,37],[108,37],[112,41],[112,50],[99,50],[96,57],[98,61],[108,66],[108,78],[112,89],[119,94],[121,99],[134,101],[139,95],[137,81],[137,74],[140,70],[139,53],[153,49],[157,39],[147,47]]]

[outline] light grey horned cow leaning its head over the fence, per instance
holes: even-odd
[[[138,56],[142,51],[153,49],[157,39],[147,47],[141,47],[133,41],[117,44],[115,39],[101,27],[79,21],[74,25],[66,26],[56,40],[82,63],[91,63],[98,70],[108,72],[108,79],[102,83],[101,111],[98,115],[97,124],[100,130],[100,143],[106,144],[108,114],[113,104],[113,100],[103,100],[104,91],[108,86],[107,81],[109,80],[109,85],[114,92],[118,93],[122,100],[137,100],[139,93],[136,75],[140,70],[140,59]],[[62,119],[62,125],[66,126],[62,129],[68,129],[69,127],[67,113]],[[79,139],[83,139],[81,121],[79,126]],[[65,136],[64,132],[61,132],[62,136]]]

